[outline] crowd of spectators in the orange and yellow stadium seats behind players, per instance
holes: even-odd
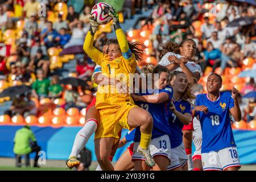
[[[39,14],[40,2],[46,5],[46,15]],[[90,27],[88,16],[97,1],[9,0],[0,3],[0,91],[20,84],[32,86],[31,93],[14,98],[6,114],[40,117],[38,103],[46,98],[66,111],[73,107],[82,110],[90,104],[96,88],[91,80],[95,64],[84,54],[60,56],[59,53],[84,44]],[[161,46],[166,41],[179,44],[189,38],[197,43],[194,61],[203,72],[197,85],[201,92],[206,90],[205,78],[210,72],[223,76],[224,90],[232,88],[230,84],[235,85],[241,98],[255,90],[254,78],[238,77],[246,69],[256,69],[255,5],[228,0],[125,0],[120,13],[125,21],[147,10],[152,10],[150,17],[138,19],[133,26],[138,29],[132,29],[131,25],[127,32],[130,41],[144,44],[144,64],[158,63]],[[251,23],[246,26],[238,23],[229,26],[233,20],[247,17]],[[101,49],[107,40],[106,34],[112,31],[108,26],[100,27],[94,46]],[[56,69],[72,59],[77,60],[76,73],[69,76],[88,81],[91,88],[58,84],[61,75]],[[241,104],[243,120],[256,119],[253,117],[255,98],[246,103],[242,100]]]

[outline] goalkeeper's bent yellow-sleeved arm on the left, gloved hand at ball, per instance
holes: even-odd
[[[93,38],[94,38],[94,33],[97,31],[97,28],[99,24],[93,20],[92,16],[89,16],[89,21],[91,24],[90,30],[88,31],[86,38],[84,40],[84,51],[87,53],[87,55],[95,61],[97,64],[101,64],[101,60],[104,57],[104,53],[99,51],[97,48],[93,46]]]

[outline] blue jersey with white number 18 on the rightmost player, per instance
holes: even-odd
[[[229,92],[220,93],[216,101],[209,99],[208,94],[196,96],[196,106],[208,107],[207,114],[197,111],[201,123],[203,142],[202,153],[219,151],[227,147],[236,147],[230,124],[229,109],[234,107],[234,100]]]

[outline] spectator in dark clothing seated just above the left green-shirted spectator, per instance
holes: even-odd
[[[38,49],[36,52],[36,55],[34,56],[34,59],[32,59],[29,63],[30,69],[38,70],[41,68],[44,72],[44,77],[47,77],[48,71],[49,71],[49,57],[46,55],[43,55],[42,49]]]

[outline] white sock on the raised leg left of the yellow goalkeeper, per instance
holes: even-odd
[[[90,136],[97,130],[97,121],[95,119],[88,119],[84,127],[76,134],[73,143],[72,151],[69,157],[77,156],[85,144],[88,142]]]

